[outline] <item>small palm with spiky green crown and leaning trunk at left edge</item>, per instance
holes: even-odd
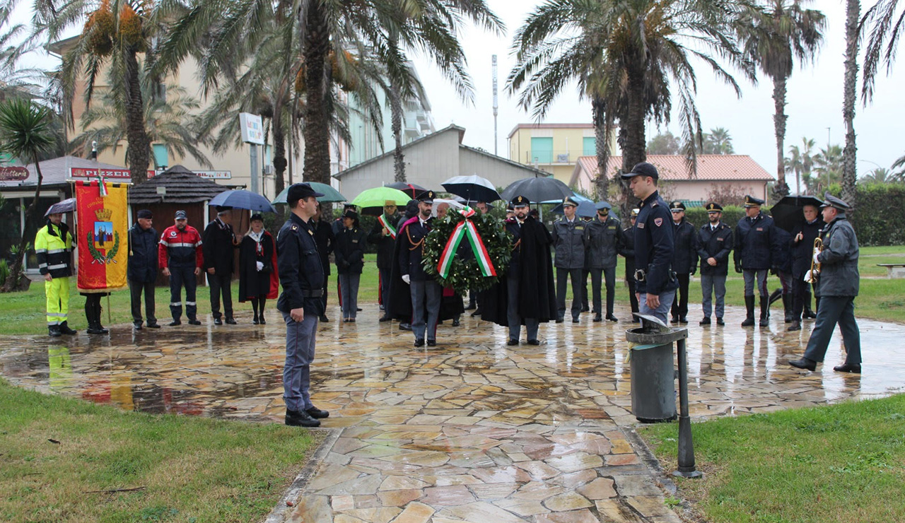
[[[23,162],[32,161],[38,175],[38,184],[34,187],[34,198],[25,210],[25,226],[22,239],[19,240],[19,256],[15,257],[13,267],[6,278],[3,290],[9,292],[18,289],[19,279],[23,276],[25,244],[28,239],[25,231],[31,231],[37,220],[38,198],[44,176],[38,164],[43,151],[51,149],[54,144],[51,129],[52,112],[31,100],[12,99],[0,103],[0,151]]]

